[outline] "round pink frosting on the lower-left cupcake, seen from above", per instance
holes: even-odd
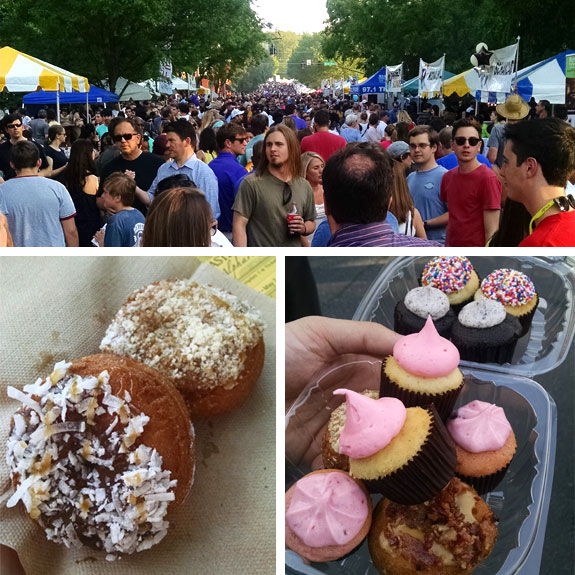
[[[367,496],[345,473],[313,473],[294,489],[286,520],[310,547],[345,545],[360,531],[369,513]]]

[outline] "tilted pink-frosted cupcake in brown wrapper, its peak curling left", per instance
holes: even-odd
[[[394,397],[372,399],[349,389],[339,451],[349,474],[372,493],[415,505],[439,493],[455,473],[455,446],[433,405],[406,408]]]

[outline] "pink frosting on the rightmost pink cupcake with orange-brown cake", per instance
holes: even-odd
[[[503,447],[512,431],[503,408],[479,400],[460,407],[447,429],[455,442],[470,453]]]

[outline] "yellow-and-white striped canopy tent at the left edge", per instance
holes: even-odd
[[[60,118],[60,91],[86,93],[88,89],[88,79],[84,76],[28,56],[10,46],[0,48],[0,92],[54,91]]]

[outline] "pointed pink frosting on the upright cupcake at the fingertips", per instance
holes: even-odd
[[[393,357],[405,371],[429,378],[449,375],[459,364],[459,351],[437,333],[431,316],[419,333],[396,342]]]

